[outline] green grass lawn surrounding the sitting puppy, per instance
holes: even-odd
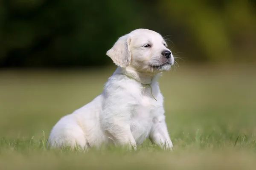
[[[256,68],[247,65],[163,74],[172,152],[148,140],[132,152],[47,150],[52,126],[100,94],[113,71],[0,71],[0,170],[255,169]]]

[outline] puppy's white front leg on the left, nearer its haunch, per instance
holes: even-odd
[[[105,95],[109,96],[105,100],[100,123],[108,138],[108,143],[123,147],[128,146],[129,149],[136,150],[136,142],[130,127],[131,111],[134,103],[129,101],[134,100],[133,96],[125,95],[125,97],[121,97],[119,93]]]

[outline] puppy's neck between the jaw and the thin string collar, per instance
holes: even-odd
[[[154,84],[154,82],[157,82],[158,77],[160,76],[160,73],[158,74],[141,73],[131,67],[126,67],[126,68],[117,67],[114,74],[125,74],[137,80],[138,82],[141,82],[142,84]]]

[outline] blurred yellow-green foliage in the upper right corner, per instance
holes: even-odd
[[[193,60],[204,56],[204,60],[211,62],[233,62],[242,54],[255,61],[254,5],[255,0],[160,0],[160,9],[175,23],[174,27],[189,32],[185,41],[189,41],[186,45],[191,48],[186,46],[186,53]],[[178,46],[182,48],[183,42]]]

